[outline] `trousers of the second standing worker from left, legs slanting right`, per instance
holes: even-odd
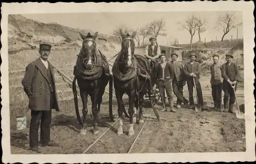
[[[183,96],[183,81],[177,81],[175,78],[173,81],[173,90],[175,96],[177,97],[177,105],[188,102],[188,100]]]

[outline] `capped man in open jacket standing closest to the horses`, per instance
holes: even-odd
[[[165,54],[159,56],[160,64],[156,67],[157,73],[157,85],[159,88],[159,93],[162,101],[163,109],[161,111],[167,111],[165,107],[165,97],[164,89],[168,97],[168,102],[170,104],[170,111],[176,112],[173,108],[173,96],[172,96],[172,81],[174,79],[174,70],[170,63],[166,62]]]

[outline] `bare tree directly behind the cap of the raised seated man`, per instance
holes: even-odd
[[[158,35],[161,36],[166,36],[166,33],[162,33],[163,31],[165,31],[165,21],[160,19],[160,20],[155,20],[153,22],[151,22],[148,26],[148,32],[150,33],[150,35],[154,35],[156,38]]]

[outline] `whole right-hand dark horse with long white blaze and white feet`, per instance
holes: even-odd
[[[124,93],[129,96],[129,135],[133,135],[134,105],[136,110],[138,110],[139,107],[139,123],[144,122],[142,115],[142,103],[146,89],[149,87],[150,89],[148,90],[151,90],[150,63],[144,56],[134,54],[134,37],[136,35],[135,32],[133,32],[132,36],[129,34],[125,36],[122,31],[120,31],[120,34],[122,37],[121,51],[117,56],[112,68],[119,116],[119,128],[117,135],[123,134],[122,113],[125,111],[125,109],[122,97]]]

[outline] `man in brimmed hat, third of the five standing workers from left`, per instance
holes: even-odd
[[[196,83],[196,89],[197,89],[197,96],[198,96],[198,105],[204,108],[204,101],[203,101],[203,93],[202,93],[202,88],[201,84],[199,81],[200,78],[200,66],[199,62],[196,61],[197,55],[194,52],[191,52],[189,55],[190,61],[187,62],[184,65],[184,73],[186,75],[187,79],[187,87],[188,87],[188,94],[189,94],[189,105],[190,108],[195,107],[194,103],[194,97],[193,97],[193,86],[194,86],[194,81],[193,78],[195,78],[195,83]]]

